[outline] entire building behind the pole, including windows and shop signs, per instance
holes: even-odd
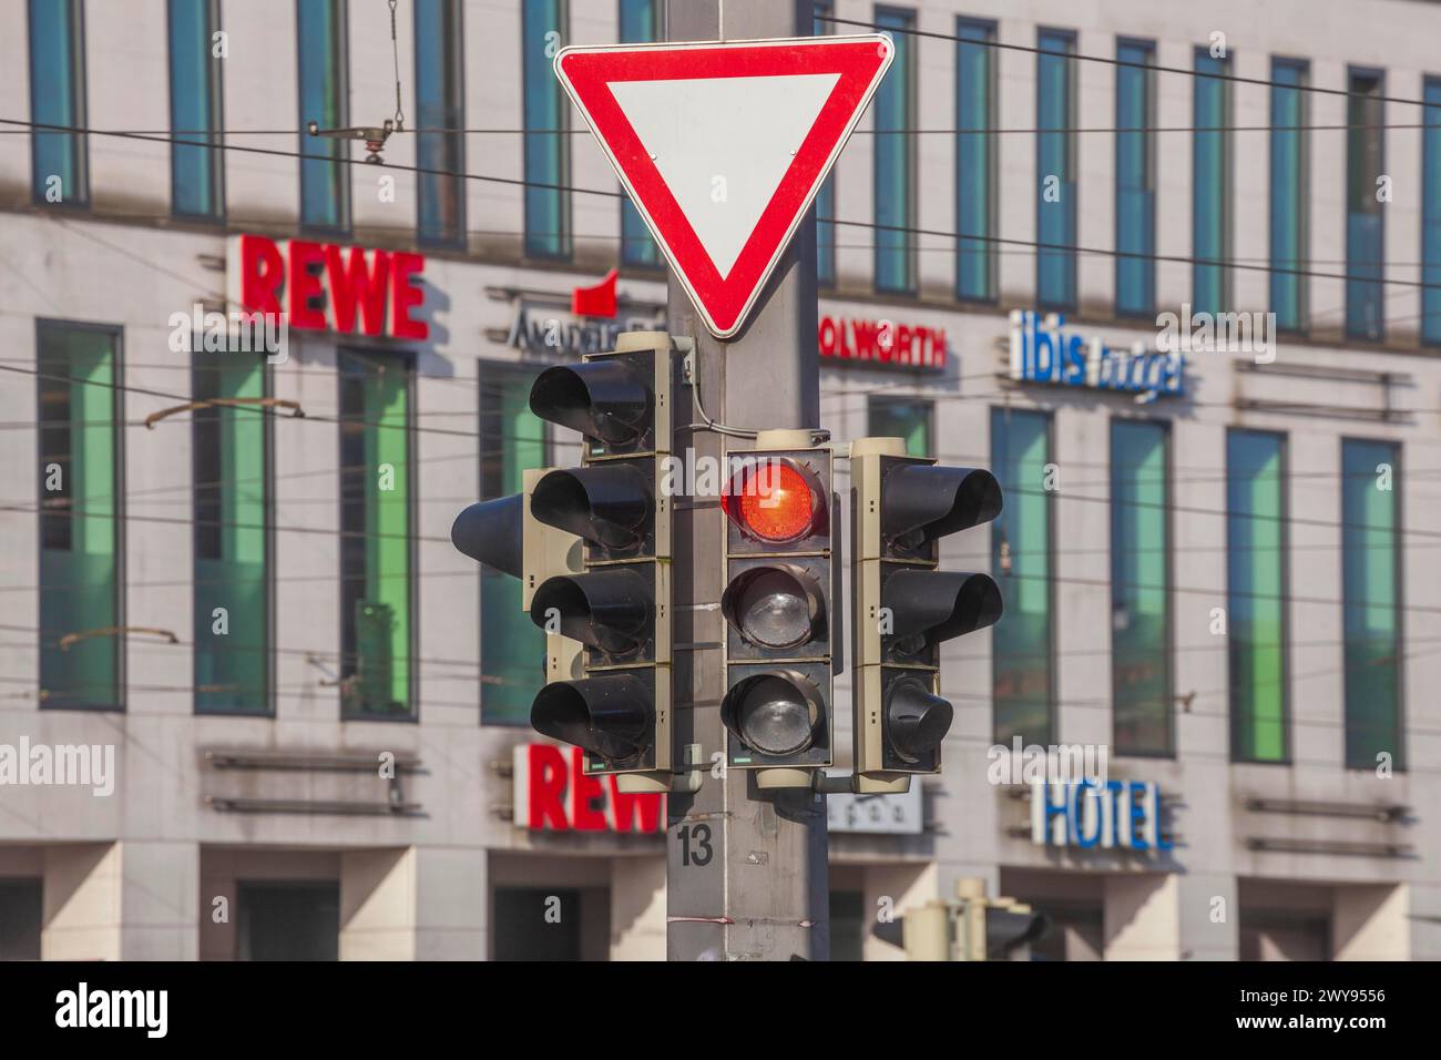
[[[659,803],[529,730],[448,536],[576,459],[540,366],[664,324],[549,63],[663,6],[401,4],[367,166],[305,128],[396,117],[383,6],[0,3],[0,956],[664,955]],[[817,200],[823,423],[1006,490],[944,773],[831,798],[834,956],[965,877],[1038,956],[1441,956],[1441,7],[817,16],[898,46]]]

